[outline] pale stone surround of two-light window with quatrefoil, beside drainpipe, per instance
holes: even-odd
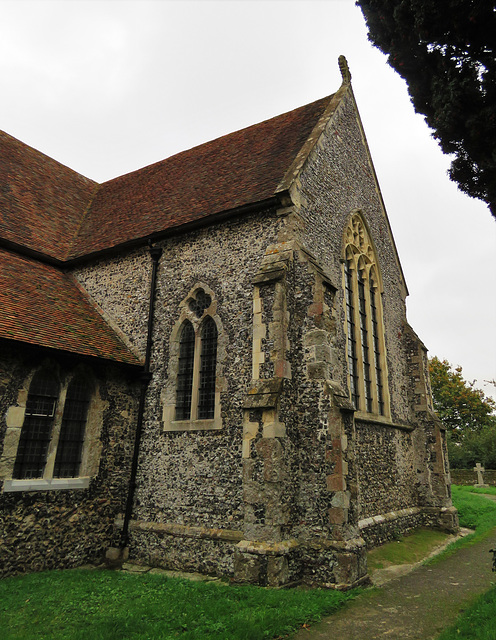
[[[203,311],[200,318],[190,308],[189,301],[195,298],[198,290],[208,294],[211,298],[211,303],[208,308]],[[167,382],[162,393],[162,421],[164,431],[215,431],[222,429],[222,415],[221,415],[221,403],[220,392],[225,387],[226,382],[222,376],[223,362],[226,356],[227,336],[222,326],[220,317],[217,315],[217,300],[212,289],[203,282],[197,282],[188,292],[188,295],[179,305],[180,315],[177,322],[172,329],[169,347],[169,366]],[[210,316],[215,322],[217,327],[217,364],[216,364],[216,383],[215,383],[215,408],[214,417],[211,419],[190,419],[190,420],[176,420],[176,389],[177,389],[177,374],[179,366],[179,350],[180,350],[180,338],[183,324],[186,320],[191,322],[195,331],[195,362],[194,373],[195,380],[198,379],[199,367],[200,367],[200,350],[201,350],[201,337],[200,327],[202,321],[206,316]],[[193,385],[193,397],[191,406],[197,405],[197,385]]]

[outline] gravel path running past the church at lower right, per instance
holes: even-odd
[[[491,571],[496,529],[473,546],[420,566],[352,601],[292,640],[432,640],[496,583]],[[495,635],[496,638],[496,635]]]

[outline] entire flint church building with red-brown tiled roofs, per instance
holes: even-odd
[[[0,132],[1,575],[129,558],[345,589],[368,548],[457,529],[340,68],[103,184]]]

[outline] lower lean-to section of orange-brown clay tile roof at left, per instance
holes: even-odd
[[[0,338],[139,365],[72,276],[0,249]]]

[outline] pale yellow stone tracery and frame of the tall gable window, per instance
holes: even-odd
[[[376,416],[378,420],[381,422],[389,422],[391,420],[391,409],[390,409],[390,396],[389,396],[389,386],[388,386],[388,374],[387,374],[387,362],[386,362],[386,345],[385,345],[385,337],[384,337],[384,316],[383,316],[383,308],[382,308],[382,295],[383,295],[383,285],[381,272],[379,268],[379,263],[377,260],[377,255],[375,248],[373,246],[373,241],[368,230],[367,224],[363,218],[361,210],[356,210],[351,215],[348,225],[345,228],[345,237],[344,237],[344,253],[343,253],[343,283],[345,282],[345,262],[349,260],[351,262],[351,268],[355,272],[352,274],[352,277],[355,281],[356,285],[356,269],[363,269],[364,278],[366,280],[366,296],[367,301],[370,303],[369,297],[369,278],[373,278],[375,289],[378,293],[377,295],[377,325],[378,325],[378,342],[379,342],[379,354],[380,354],[380,367],[382,371],[382,393],[383,393],[383,403],[384,403],[384,412],[383,414],[379,413],[378,410],[378,399],[377,399],[377,390],[376,390],[376,371],[375,367],[371,365],[371,374],[372,374],[372,412],[367,412],[365,406],[365,397],[364,397],[364,365],[363,365],[363,354],[361,349],[361,338],[360,338],[360,330],[357,321],[355,320],[355,332],[357,340],[357,368],[358,368],[358,384],[359,384],[359,406],[356,407],[356,416],[367,418],[370,416]],[[344,289],[344,284],[343,284]],[[358,286],[353,287],[353,295],[354,295],[354,308],[355,312],[359,309],[359,300],[358,300]],[[370,304],[369,304],[370,306]],[[343,309],[344,309],[344,331],[346,336],[346,342],[348,343],[348,331],[346,326],[346,296],[343,298]],[[367,323],[368,323],[368,334],[372,335],[372,326],[371,326],[371,317],[370,313],[367,314]],[[369,344],[370,348],[370,344]],[[348,371],[348,366],[346,367]],[[348,377],[348,388],[351,389],[350,384],[350,374],[349,371],[347,373]]]

